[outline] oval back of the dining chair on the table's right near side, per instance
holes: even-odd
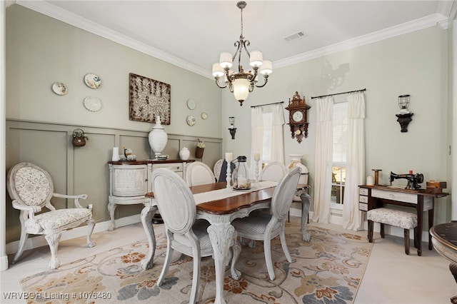
[[[278,181],[278,185],[271,198],[271,214],[282,221],[286,218],[288,209],[291,208],[292,198],[296,192],[301,168],[293,167]]]

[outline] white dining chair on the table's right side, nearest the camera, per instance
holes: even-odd
[[[253,211],[247,218],[237,218],[232,222],[233,227],[242,238],[263,240],[263,253],[270,280],[276,278],[271,261],[271,240],[279,235],[281,246],[288,263],[292,263],[291,254],[286,244],[284,227],[288,209],[291,207],[292,197],[296,191],[301,168],[293,167],[278,181],[278,185],[271,198],[270,213]]]

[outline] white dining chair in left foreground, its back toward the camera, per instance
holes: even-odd
[[[164,283],[174,250],[194,258],[191,298],[196,303],[200,280],[201,257],[213,255],[208,234],[209,222],[196,220],[196,203],[189,186],[168,168],[159,168],[152,173],[152,190],[166,228],[166,256],[157,285]],[[241,273],[235,269],[241,247],[236,241],[236,232],[231,244],[231,275],[238,280]]]

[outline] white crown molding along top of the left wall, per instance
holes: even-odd
[[[16,0],[16,4],[24,6],[27,9],[37,11],[46,16],[50,16],[54,19],[65,22],[66,24],[76,26],[79,29],[84,29],[85,31],[89,31],[92,34],[104,37],[118,44],[128,46],[129,48],[134,49],[136,51],[141,51],[144,54],[166,61],[169,64],[173,64],[174,66],[179,66],[182,69],[186,69],[206,78],[213,79],[211,76],[211,71],[207,71],[206,69],[202,69],[199,66],[190,64],[189,62],[179,59],[176,56],[172,56],[164,51],[155,49],[147,44],[132,39],[129,36],[120,34],[119,32],[108,29],[105,26],[101,26],[100,24],[97,24],[94,21],[90,21],[89,19],[71,13],[70,11],[61,9],[58,6],[49,4],[46,1]]]

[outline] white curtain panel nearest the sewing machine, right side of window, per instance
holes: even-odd
[[[343,228],[362,230],[362,215],[358,210],[358,185],[365,179],[365,98],[363,93],[348,96],[348,141],[346,183],[344,185]]]

